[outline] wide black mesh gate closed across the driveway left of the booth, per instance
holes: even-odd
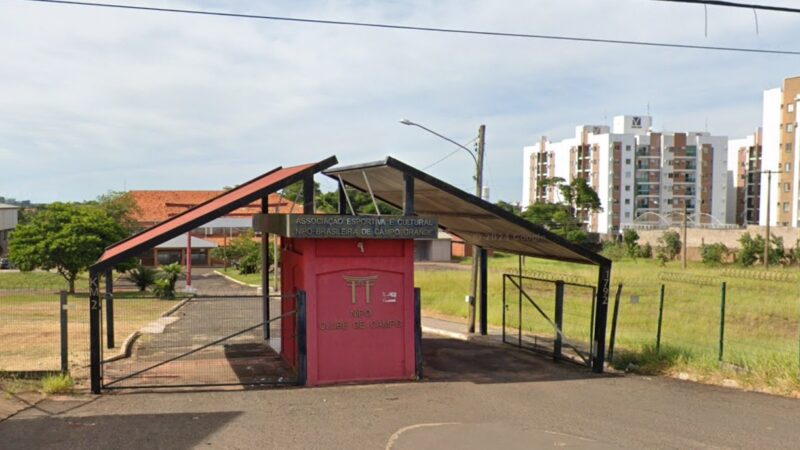
[[[265,314],[262,295],[195,295],[153,315],[149,312],[152,299],[147,303],[142,299],[115,299],[111,320],[118,336],[128,334],[113,354],[104,351],[101,386],[130,389],[304,383],[305,293],[270,295],[269,300],[270,311]],[[145,320],[137,315],[144,315]],[[282,357],[282,321],[294,322],[290,329],[295,330],[295,336],[290,345],[295,348],[289,352],[296,355],[294,361]],[[137,324],[136,329],[125,329],[128,323]],[[141,323],[145,325],[138,326]],[[105,334],[97,337],[104,341],[104,349],[111,343]]]

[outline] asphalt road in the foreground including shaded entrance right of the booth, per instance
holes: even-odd
[[[425,340],[426,381],[47,401],[0,448],[797,448],[800,401]]]

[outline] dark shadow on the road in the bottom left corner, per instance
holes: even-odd
[[[84,417],[41,416],[0,423],[3,449],[189,449],[240,412],[129,414]]]

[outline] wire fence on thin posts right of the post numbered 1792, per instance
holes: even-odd
[[[797,377],[800,293],[794,278],[749,271],[718,275],[662,273],[656,285],[621,286],[609,361],[645,348],[776,379]]]

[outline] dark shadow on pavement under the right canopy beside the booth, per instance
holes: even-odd
[[[616,375],[595,374],[589,368],[516,348],[478,345],[448,338],[422,341],[426,381],[518,383],[593,379]]]

